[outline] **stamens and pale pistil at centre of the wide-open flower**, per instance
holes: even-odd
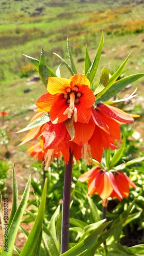
[[[71,118],[71,115],[75,114],[75,122],[77,122],[77,109],[75,104],[79,104],[82,93],[78,92],[79,88],[77,86],[73,87],[73,91],[70,88],[66,88],[66,93],[63,94],[63,98],[67,99],[66,103],[69,107],[64,111],[64,115],[67,115],[68,118]]]

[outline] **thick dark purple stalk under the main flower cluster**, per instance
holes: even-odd
[[[68,250],[69,244],[69,205],[73,169],[73,152],[69,150],[69,161],[65,165],[63,204],[62,204],[62,229],[61,229],[61,254]]]

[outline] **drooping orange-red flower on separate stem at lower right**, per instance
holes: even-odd
[[[98,166],[82,174],[78,180],[80,182],[88,180],[88,195],[97,192],[104,201],[108,197],[116,197],[121,201],[123,197],[128,198],[129,187],[137,187],[121,170],[106,172]]]

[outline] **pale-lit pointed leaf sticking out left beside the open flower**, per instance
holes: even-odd
[[[36,120],[34,120],[33,122],[29,123],[25,128],[23,128],[22,130],[18,131],[17,133],[21,133],[21,132],[25,132],[28,130],[31,130],[34,127],[40,126],[44,123],[47,123],[50,121],[50,117],[48,113],[43,114],[43,116],[40,116],[39,118],[37,118]]]

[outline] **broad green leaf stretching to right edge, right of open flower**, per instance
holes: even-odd
[[[137,79],[144,76],[144,74],[136,74],[124,77],[113,84],[108,84],[107,87],[97,96],[95,103],[105,102],[110,98],[114,97],[117,93],[121,92],[128,84],[136,81]]]

